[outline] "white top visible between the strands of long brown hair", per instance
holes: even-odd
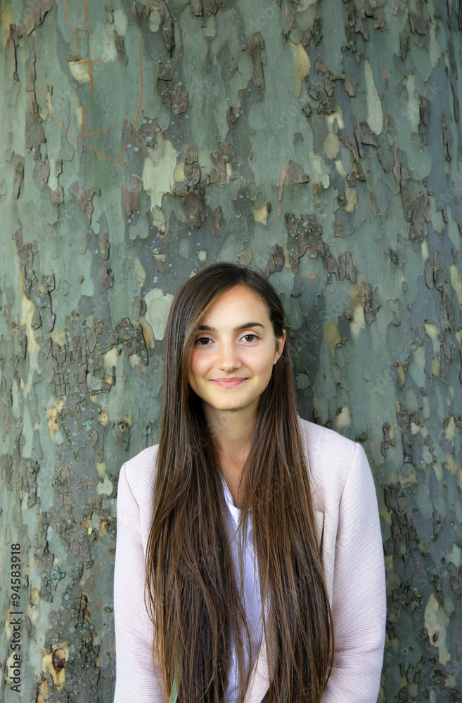
[[[228,527],[229,527],[229,538],[231,541],[231,552],[233,554],[234,568],[236,572],[236,583],[238,589],[240,588],[240,569],[239,569],[239,558],[238,558],[238,538],[240,536],[238,532],[238,524],[242,510],[236,508],[233,503],[233,496],[231,496],[231,491],[226,484],[224,477],[222,476],[224,498],[226,500],[226,505],[228,506]],[[259,575],[258,575],[258,565],[255,560],[255,552],[252,543],[252,521],[248,521],[248,534],[245,542],[243,543],[243,567],[244,567],[244,590],[243,590],[243,606],[245,610],[245,615],[250,629],[251,637],[251,647],[250,651],[248,649],[248,638],[244,631],[244,652],[245,652],[245,666],[247,670],[252,666],[255,658],[257,657],[257,652],[259,649],[260,640],[262,638],[262,623],[260,619],[261,615],[261,599],[259,594]],[[236,662],[236,652],[234,650],[234,644],[231,637],[231,669],[229,671],[229,683],[226,690],[225,703],[235,703],[238,698],[238,667]]]

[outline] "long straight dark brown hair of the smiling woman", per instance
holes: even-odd
[[[267,307],[276,340],[287,327],[281,300],[253,266],[219,262],[181,286],[165,330],[162,425],[146,550],[145,603],[153,664],[181,703],[221,703],[236,647],[239,697],[249,681],[249,638],[226,530],[219,458],[200,398],[188,382],[198,325],[236,285]],[[309,467],[297,420],[288,339],[259,398],[243,467],[242,532],[252,526],[263,637],[271,654],[270,703],[319,703],[333,666],[333,621],[316,542]],[[240,554],[242,568],[242,554]],[[249,641],[249,640],[247,640]]]

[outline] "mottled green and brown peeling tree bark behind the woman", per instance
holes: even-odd
[[[379,701],[460,700],[461,0],[2,0],[1,27],[2,698],[112,702],[118,472],[158,441],[174,293],[226,260],[281,293],[300,415],[371,462]]]

